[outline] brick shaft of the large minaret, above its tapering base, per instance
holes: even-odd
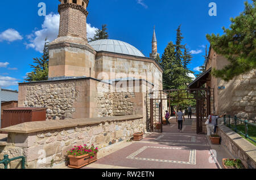
[[[87,42],[86,18],[89,0],[59,0],[59,36],[81,37]]]

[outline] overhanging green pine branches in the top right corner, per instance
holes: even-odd
[[[224,35],[207,35],[217,54],[228,59],[229,65],[222,70],[213,69],[212,74],[226,81],[256,68],[256,1],[245,2],[245,10],[236,18],[231,18],[230,29],[223,27]]]

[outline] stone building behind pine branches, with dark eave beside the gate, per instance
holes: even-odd
[[[221,78],[215,78],[210,74],[213,68],[221,70],[229,64],[228,59],[214,52],[210,48],[206,71],[189,88],[200,88],[206,83],[206,87],[214,90],[214,109],[217,114],[226,112],[237,115],[238,118],[256,120],[256,70],[251,70],[225,82]]]

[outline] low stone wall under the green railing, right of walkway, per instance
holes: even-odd
[[[256,168],[256,147],[243,139],[239,134],[225,125],[218,126],[218,135],[221,136],[221,144],[236,158],[242,160],[246,168]]]

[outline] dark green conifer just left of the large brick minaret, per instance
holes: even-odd
[[[35,65],[30,65],[33,69],[27,73],[27,82],[36,82],[48,80],[48,67],[49,67],[49,42],[47,39],[44,42],[43,55],[40,58],[33,58]]]

